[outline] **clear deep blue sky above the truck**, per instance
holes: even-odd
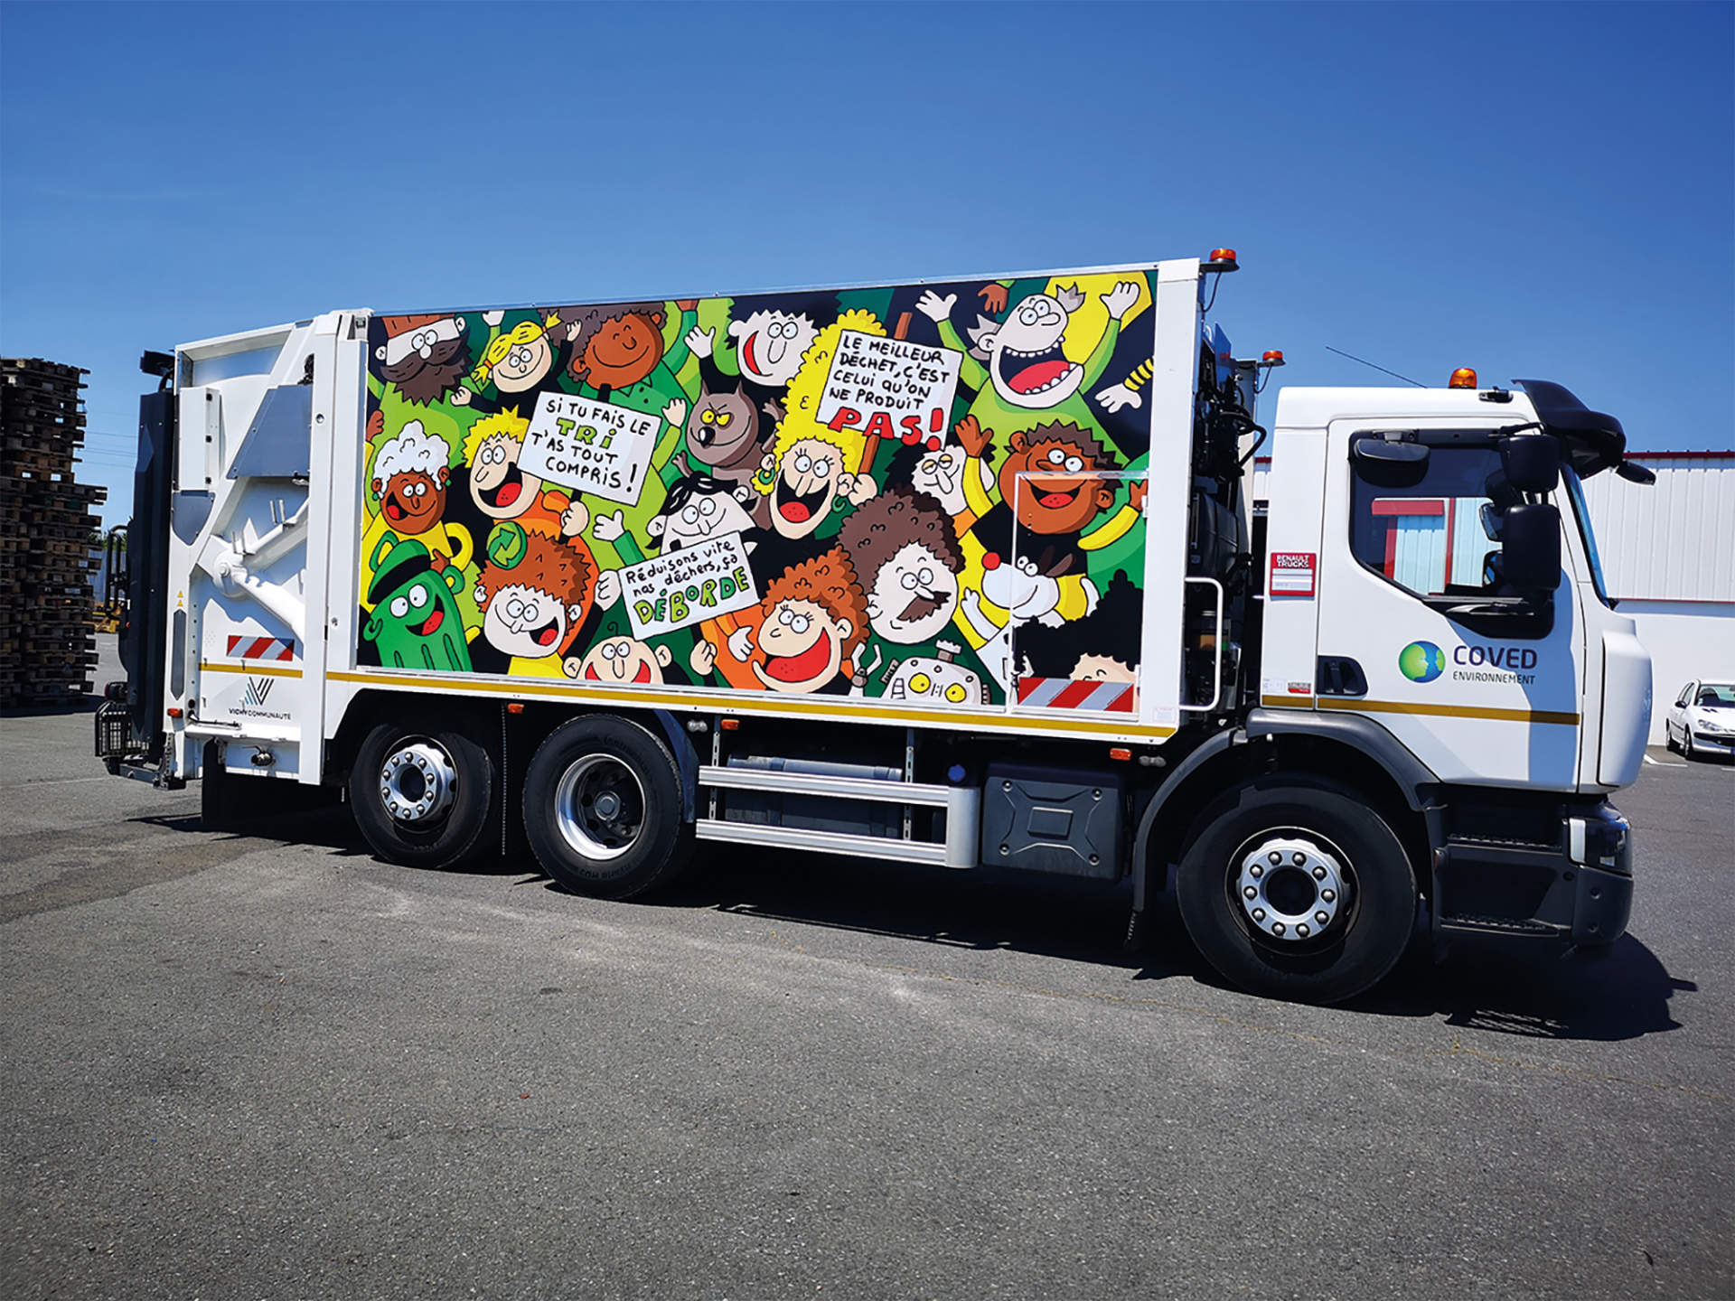
[[[1551,378],[1735,444],[1735,5],[12,5],[0,356],[1234,246],[1282,383]],[[1272,406],[1261,408],[1270,415]]]

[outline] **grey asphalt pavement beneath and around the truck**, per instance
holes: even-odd
[[[649,902],[206,831],[0,716],[0,1296],[1735,1296],[1735,767],[1629,935],[1352,1004],[1128,895],[713,847]]]

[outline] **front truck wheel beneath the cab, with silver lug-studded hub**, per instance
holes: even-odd
[[[1338,1003],[1378,982],[1416,921],[1391,827],[1324,784],[1265,777],[1204,810],[1175,893],[1187,933],[1237,985]]]

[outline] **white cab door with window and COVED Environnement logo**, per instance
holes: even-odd
[[[1414,451],[1357,454],[1362,439]],[[1492,430],[1331,427],[1313,704],[1376,720],[1444,781],[1570,788],[1574,585],[1529,607],[1503,586],[1501,510],[1515,501]]]

